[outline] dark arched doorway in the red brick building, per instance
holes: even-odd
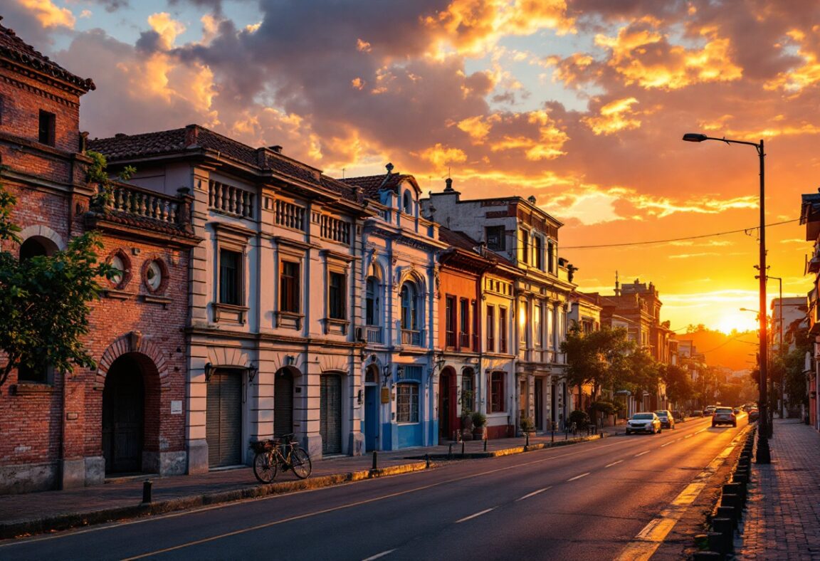
[[[106,473],[143,469],[145,388],[142,368],[124,354],[108,369],[103,387],[103,457]]]

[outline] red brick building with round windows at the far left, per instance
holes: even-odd
[[[91,304],[85,348],[96,370],[21,368],[0,386],[0,493],[103,483],[124,472],[185,471],[189,198],[85,181],[80,96],[94,89],[0,25],[0,181],[17,198],[21,259],[101,233],[121,270]]]

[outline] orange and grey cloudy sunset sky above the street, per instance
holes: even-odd
[[[759,250],[755,148],[681,137],[763,139],[769,276],[785,297],[812,288],[797,219],[820,184],[820,2],[4,0],[0,15],[94,80],[91,138],[198,123],[330,176],[392,162],[425,192],[451,176],[462,198],[534,195],[579,290],[652,282],[681,332],[755,328],[740,308],[758,309]]]

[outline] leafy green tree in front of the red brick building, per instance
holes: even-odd
[[[20,227],[11,221],[15,204],[0,185],[0,350],[6,361],[0,363],[0,385],[21,365],[57,372],[96,367],[81,337],[89,332],[89,302],[101,290],[98,279],[115,273],[98,262],[102,243],[89,232],[53,255],[21,260],[7,249],[21,244]]]

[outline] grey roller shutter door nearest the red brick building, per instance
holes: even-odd
[[[207,386],[205,438],[210,467],[242,463],[242,378],[216,372]]]

